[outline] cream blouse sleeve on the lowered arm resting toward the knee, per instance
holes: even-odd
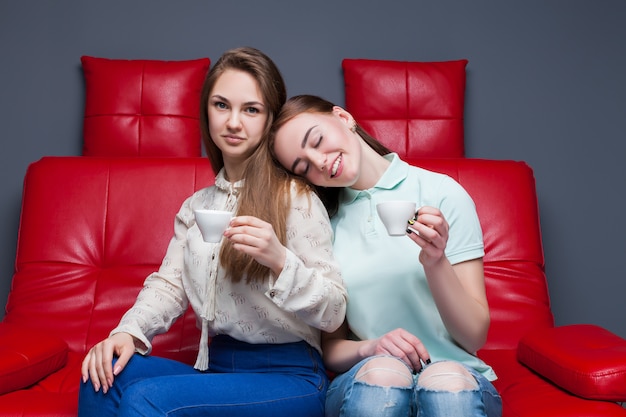
[[[150,274],[134,305],[124,314],[118,326],[111,331],[129,333],[146,347],[137,347],[141,354],[152,350],[152,338],[165,333],[186,310],[189,304],[182,282],[184,247],[189,228],[189,199],[183,203],[174,221],[174,236],[158,272]]]

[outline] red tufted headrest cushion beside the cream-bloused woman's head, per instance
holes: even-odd
[[[81,57],[85,156],[200,156],[200,91],[208,58]]]

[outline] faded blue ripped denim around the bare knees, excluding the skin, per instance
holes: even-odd
[[[502,400],[493,384],[472,368],[466,369],[478,383],[477,390],[435,391],[416,384],[407,387],[381,387],[355,379],[361,367],[372,358],[338,375],[326,395],[326,417],[500,417]],[[426,365],[423,369],[426,369]]]

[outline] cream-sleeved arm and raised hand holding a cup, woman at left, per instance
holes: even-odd
[[[292,190],[284,247],[271,225],[252,216],[233,219],[225,236],[273,271],[267,296],[310,326],[337,329],[345,316],[347,292],[332,252],[332,228],[314,194]]]

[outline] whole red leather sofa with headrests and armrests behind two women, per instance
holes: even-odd
[[[532,169],[464,157],[465,65],[344,60],[346,107],[406,160],[449,174],[474,198],[492,315],[478,355],[498,374],[504,415],[626,416],[626,341],[591,324],[554,327]],[[197,121],[207,67],[83,59],[84,155],[44,157],[24,179],[0,323],[0,416],[76,414],[83,355],[160,265],[180,203],[213,181],[188,120]],[[163,85],[175,87],[154,88]],[[188,313],[152,354],[193,363],[198,338]]]

